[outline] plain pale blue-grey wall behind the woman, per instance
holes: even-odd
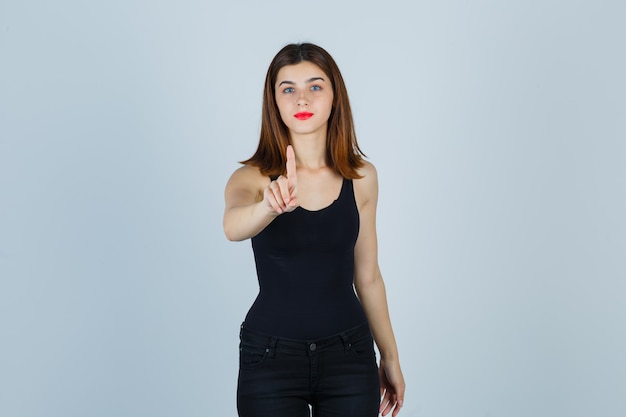
[[[401,415],[626,416],[626,6],[0,0],[0,415],[235,416],[223,190],[286,43],[380,176]]]

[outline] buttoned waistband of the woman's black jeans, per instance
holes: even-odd
[[[371,339],[372,334],[368,322],[364,322],[332,336],[314,340],[297,340],[255,332],[246,328],[244,322],[241,324],[239,336],[242,344],[266,348],[270,356],[273,356],[276,351],[311,354],[323,350],[350,350],[352,343],[364,338]]]

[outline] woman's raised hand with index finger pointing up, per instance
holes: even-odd
[[[296,176],[296,154],[287,146],[287,176],[281,175],[270,182],[263,191],[263,202],[271,211],[282,214],[298,207],[298,178]]]

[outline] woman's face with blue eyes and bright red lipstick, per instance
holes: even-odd
[[[333,106],[333,88],[327,74],[308,61],[287,65],[278,71],[274,89],[280,117],[292,136],[326,136]]]

